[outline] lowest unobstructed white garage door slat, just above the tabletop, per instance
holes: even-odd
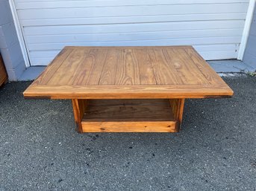
[[[212,29],[212,30],[197,30],[193,33],[193,30],[174,30],[174,31],[159,31],[159,32],[140,32],[140,33],[97,33],[97,34],[63,34],[63,35],[33,35],[27,36],[27,42],[29,44],[38,43],[70,43],[70,42],[108,42],[110,39],[115,41],[127,41],[127,40],[150,40],[150,39],[181,39],[181,38],[196,38],[202,37],[229,37],[240,36],[243,32],[243,28],[234,29]]]

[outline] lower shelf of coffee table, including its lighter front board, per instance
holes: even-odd
[[[178,132],[169,100],[90,100],[83,132]]]

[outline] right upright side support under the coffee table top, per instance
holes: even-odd
[[[172,113],[176,120],[175,129],[177,130],[177,132],[179,132],[179,130],[181,129],[184,102],[185,102],[185,99],[170,99],[169,100],[169,103],[171,104],[171,107],[172,107]]]

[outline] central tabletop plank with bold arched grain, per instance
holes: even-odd
[[[120,63],[116,69],[116,85],[140,85],[137,57],[131,48],[122,49]]]

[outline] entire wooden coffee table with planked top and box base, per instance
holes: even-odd
[[[186,98],[232,94],[191,46],[65,47],[24,97],[72,100],[78,132],[178,132]]]

